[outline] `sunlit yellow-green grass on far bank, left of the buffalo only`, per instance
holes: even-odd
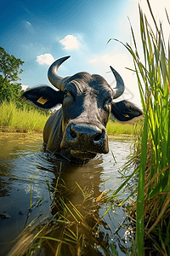
[[[17,108],[14,102],[0,104],[0,113],[0,126],[8,127],[9,131],[42,131],[48,119],[46,113],[38,113],[36,109]]]

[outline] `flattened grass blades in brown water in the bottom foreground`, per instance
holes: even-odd
[[[32,177],[33,179],[34,177]],[[47,181],[48,183],[48,181]],[[102,228],[107,224],[99,218],[99,207],[108,200],[111,191],[102,192],[94,198],[94,191],[81,188],[68,189],[58,177],[52,195],[51,218],[37,222],[35,218],[18,237],[8,256],[39,255],[47,250],[48,255],[118,255],[116,247]],[[82,203],[73,205],[70,195],[82,194]],[[38,202],[39,203],[39,202]],[[38,204],[37,203],[37,204]]]

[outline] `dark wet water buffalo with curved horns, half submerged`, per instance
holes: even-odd
[[[96,154],[109,152],[105,127],[110,113],[120,121],[128,121],[139,117],[142,111],[132,102],[113,102],[124,91],[122,77],[113,67],[115,89],[97,74],[81,72],[60,77],[58,68],[69,57],[54,61],[48,69],[50,83],[59,90],[43,85],[26,90],[22,97],[40,108],[54,108],[62,104],[44,127],[43,152],[80,163],[94,158]]]

